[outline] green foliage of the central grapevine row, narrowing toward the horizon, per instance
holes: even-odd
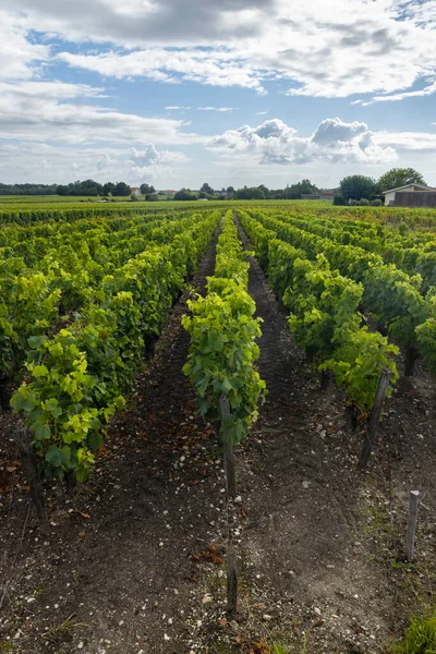
[[[191,335],[184,373],[197,393],[202,415],[217,423],[219,400],[227,397],[230,415],[226,428],[233,444],[240,443],[257,417],[257,405],[266,395],[265,382],[255,362],[259,349],[261,319],[247,293],[249,264],[238,238],[232,211],[225,217],[218,240],[215,276],[207,294],[189,302],[191,315],[183,327]]]

